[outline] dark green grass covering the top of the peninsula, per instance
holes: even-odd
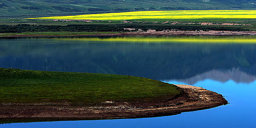
[[[0,102],[152,100],[180,94],[178,87],[147,78],[75,72],[0,68]]]

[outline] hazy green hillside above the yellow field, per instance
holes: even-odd
[[[253,9],[256,0],[0,0],[0,16],[71,15],[133,10]]]

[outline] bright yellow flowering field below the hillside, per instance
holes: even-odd
[[[89,14],[76,16],[52,16],[28,19],[90,19],[90,20],[129,20],[129,19],[204,19],[204,18],[256,18],[256,10],[187,10],[187,11],[134,11]]]

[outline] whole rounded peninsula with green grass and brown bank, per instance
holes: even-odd
[[[201,87],[136,76],[0,68],[0,124],[170,116],[226,104]]]

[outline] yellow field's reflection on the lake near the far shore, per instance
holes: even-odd
[[[110,37],[110,38],[50,38],[53,40],[82,41],[86,43],[115,42],[115,43],[188,43],[188,44],[255,44],[256,36],[170,36],[170,37]]]

